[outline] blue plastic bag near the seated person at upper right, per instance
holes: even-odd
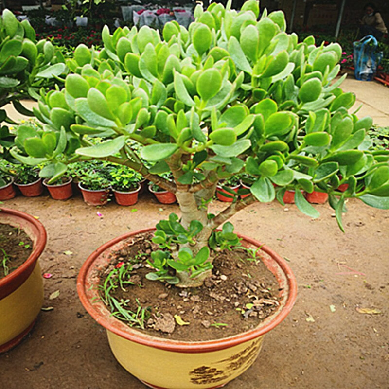
[[[373,35],[364,36],[353,42],[354,75],[360,81],[372,81],[383,53],[377,50],[377,39]]]

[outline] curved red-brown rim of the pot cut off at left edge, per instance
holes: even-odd
[[[16,279],[20,277],[25,271],[31,271],[34,269],[34,264],[38,260],[40,254],[44,250],[46,246],[46,240],[47,240],[47,234],[46,230],[43,226],[43,224],[36,220],[33,216],[29,215],[28,213],[12,210],[9,208],[0,208],[0,221],[1,221],[1,214],[9,214],[12,216],[17,216],[19,218],[27,220],[29,223],[34,225],[34,227],[38,231],[38,239],[36,241],[36,246],[33,248],[33,251],[31,252],[30,256],[24,261],[22,265],[20,265],[17,269],[15,269],[13,272],[8,274],[7,276],[0,279],[0,290],[2,288],[7,288],[11,283],[16,282]],[[3,296],[5,297],[5,296]],[[0,293],[0,300],[2,299],[1,293]]]

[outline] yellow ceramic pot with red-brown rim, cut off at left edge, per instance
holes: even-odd
[[[43,281],[38,258],[46,245],[46,230],[33,216],[0,208],[0,223],[22,229],[33,241],[33,251],[12,273],[0,279],[0,353],[17,345],[34,326],[43,303]]]

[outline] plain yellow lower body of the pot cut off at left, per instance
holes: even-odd
[[[43,303],[43,282],[39,264],[28,279],[0,300],[0,345],[8,343],[29,328]]]

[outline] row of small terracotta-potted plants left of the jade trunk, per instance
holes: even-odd
[[[0,200],[9,200],[16,195],[16,185],[22,195],[39,196],[46,186],[50,195],[56,200],[67,200],[73,195],[73,188],[79,188],[85,202],[89,205],[104,205],[112,190],[119,205],[134,205],[138,194],[146,185],[146,180],[134,170],[114,163],[83,162],[73,163],[69,175],[50,180],[39,175],[40,170],[23,164],[3,164],[0,167]],[[53,182],[51,182],[53,181]],[[171,204],[176,196],[150,184],[150,192],[159,202]]]

